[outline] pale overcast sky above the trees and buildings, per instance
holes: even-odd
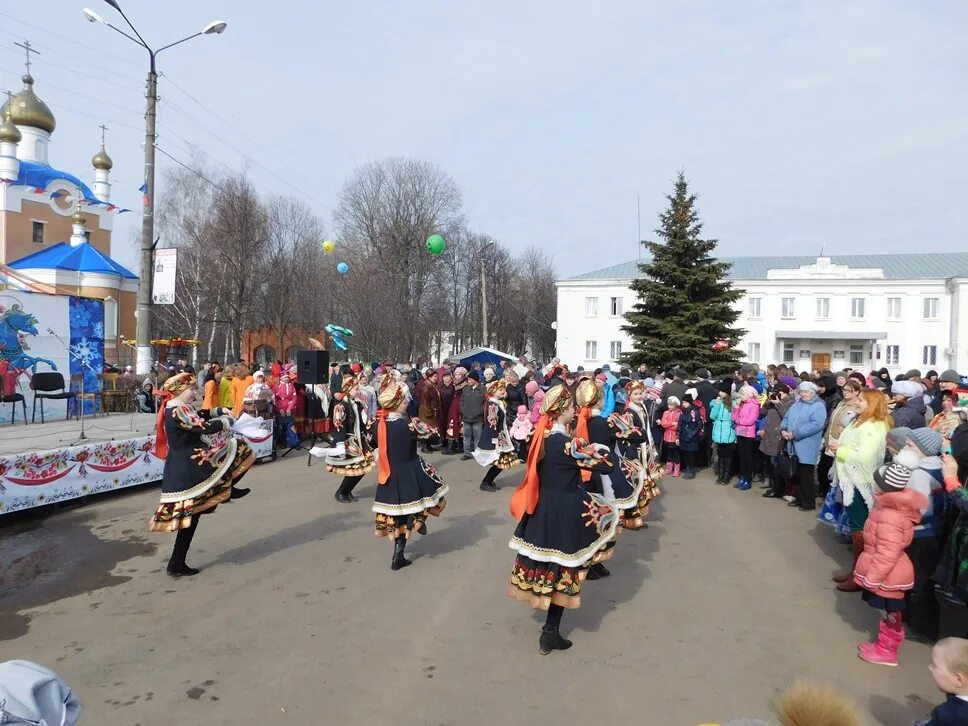
[[[723,255],[966,249],[960,0],[121,1],[155,45],[229,23],[160,56],[159,146],[305,195],[329,229],[355,167],[408,156],[454,177],[473,229],[562,276],[635,258],[636,197],[649,238],[678,169]],[[0,88],[30,39],[51,164],[90,180],[103,121],[114,200],[137,210],[146,54],[85,4],[123,27],[103,0],[3,3]],[[140,221],[120,221],[136,270]]]

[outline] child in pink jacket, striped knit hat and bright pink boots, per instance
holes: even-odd
[[[887,464],[874,472],[874,508],[864,524],[864,552],[854,565],[854,582],[866,591],[864,600],[886,611],[873,643],[861,643],[861,660],[878,665],[897,665],[897,651],[904,641],[901,614],[904,593],[914,587],[914,565],[904,551],[914,539],[914,525],[928,506],[928,498],[908,487],[911,470]]]

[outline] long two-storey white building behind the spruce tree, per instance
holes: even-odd
[[[736,327],[750,362],[891,374],[968,371],[968,253],[736,257]],[[638,262],[559,280],[557,353],[571,366],[614,363],[635,303]]]

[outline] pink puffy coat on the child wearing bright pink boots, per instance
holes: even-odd
[[[914,565],[904,550],[914,539],[927,497],[914,489],[878,492],[864,524],[864,552],[854,565],[854,582],[875,595],[900,600],[914,587]]]

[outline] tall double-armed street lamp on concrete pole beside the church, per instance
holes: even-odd
[[[147,374],[151,369],[151,279],[153,268],[154,236],[155,236],[155,118],[158,106],[158,73],[155,70],[155,58],[161,51],[172,48],[181,43],[185,43],[200,35],[219,35],[225,31],[226,23],[224,20],[215,20],[199,32],[189,35],[174,43],[163,45],[157,50],[151,48],[138,29],[131,24],[128,16],[124,14],[117,0],[104,0],[108,5],[117,10],[124,22],[131,29],[134,35],[121,30],[102,18],[90,8],[84,8],[84,17],[91,23],[101,23],[111,30],[123,35],[136,45],[140,45],[148,51],[150,61],[148,69],[148,85],[145,96],[148,100],[148,108],[145,112],[145,192],[144,192],[144,215],[141,224],[141,280],[138,285],[138,328],[137,328],[137,360],[136,371],[139,375]]]

